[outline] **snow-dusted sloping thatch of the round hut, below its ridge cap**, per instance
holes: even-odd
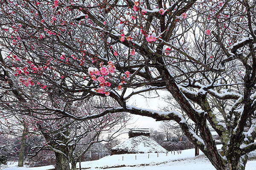
[[[168,151],[148,136],[136,136],[111,149],[111,155],[124,153],[167,153]]]

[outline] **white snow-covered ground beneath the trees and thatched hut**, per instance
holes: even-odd
[[[201,151],[200,151],[201,152]],[[100,170],[108,168],[108,170],[215,170],[212,164],[208,161],[204,154],[194,156],[195,150],[182,150],[180,154],[169,152],[165,153],[148,153],[141,154],[122,154],[106,156],[97,161],[82,162],[81,167],[89,170]],[[250,158],[256,158],[256,151],[249,155]],[[9,165],[11,166],[11,165]],[[3,168],[3,170],[49,170],[53,166],[18,168],[15,167]],[[77,164],[77,167],[78,164]],[[118,167],[118,169],[117,169]],[[255,170],[256,159],[247,162],[245,170]]]

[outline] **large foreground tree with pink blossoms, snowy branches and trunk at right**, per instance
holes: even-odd
[[[7,53],[1,69],[10,73],[2,75],[2,88],[16,80],[29,99],[29,105],[19,100],[17,110],[13,99],[5,100],[4,109],[27,115],[47,110],[84,121],[89,118],[66,106],[109,96],[120,107],[90,117],[126,111],[175,120],[216,169],[244,169],[247,153],[256,149],[255,0],[1,3],[0,44]],[[201,138],[177,111],[127,104],[156,90],[177,101]],[[1,92],[11,98],[7,93]],[[44,104],[52,96],[64,102],[49,108]],[[221,154],[209,126],[221,139]]]

